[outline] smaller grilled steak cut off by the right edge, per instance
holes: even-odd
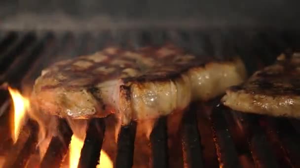
[[[241,86],[227,89],[223,104],[241,112],[300,117],[300,55],[279,58]]]

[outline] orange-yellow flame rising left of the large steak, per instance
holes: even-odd
[[[12,140],[17,141],[20,130],[24,125],[25,114],[29,109],[29,100],[24,98],[20,92],[8,86],[9,94],[11,95],[14,107],[14,129],[12,129]]]

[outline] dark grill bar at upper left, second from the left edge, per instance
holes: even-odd
[[[0,72],[3,72],[15,57],[22,54],[24,49],[31,45],[35,39],[36,34],[33,32],[26,33],[24,36],[20,35],[19,39],[0,57]]]

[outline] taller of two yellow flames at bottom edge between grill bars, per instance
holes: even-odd
[[[69,168],[77,168],[82,147],[83,140],[80,140],[75,135],[73,135],[70,143]]]

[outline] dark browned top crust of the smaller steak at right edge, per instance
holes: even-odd
[[[247,82],[231,86],[231,91],[268,96],[300,95],[300,58],[278,61],[257,71]]]

